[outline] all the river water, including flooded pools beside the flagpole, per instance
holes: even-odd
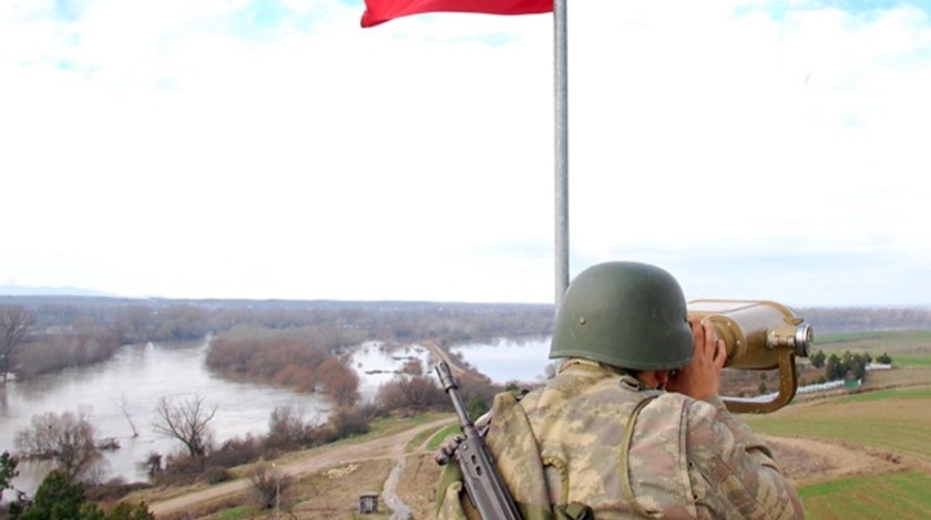
[[[451,349],[492,381],[533,381],[543,374],[548,342],[501,340]],[[153,431],[155,409],[163,397],[170,401],[202,396],[216,406],[211,429],[217,443],[247,434],[268,431],[268,417],[277,406],[291,405],[307,420],[324,422],[330,403],[318,395],[288,388],[241,383],[209,372],[205,364],[206,342],[130,345],[101,364],[69,368],[29,381],[12,381],[0,387],[0,451],[16,451],[17,431],[30,426],[33,415],[65,412],[84,413],[99,438],[114,438],[120,449],[104,455],[103,479],[144,480],[137,464],[151,453],[170,454],[181,446]],[[409,360],[419,360],[430,370],[429,352],[419,345],[386,351],[380,343],[360,345],[351,366],[360,376],[364,401],[374,398],[379,385],[390,381],[393,371]],[[132,424],[131,424],[132,422]],[[133,436],[133,425],[137,436]],[[32,493],[48,468],[20,464],[18,489]]]

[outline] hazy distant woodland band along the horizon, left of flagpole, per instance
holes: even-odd
[[[331,345],[336,339],[338,349],[369,340],[466,342],[541,335],[550,332],[553,320],[552,305],[521,304],[249,303],[53,297],[20,297],[8,301],[11,303],[0,304],[3,382],[11,373],[31,377],[104,361],[125,344],[201,340],[209,334],[224,335],[223,342],[227,342],[225,333],[244,335],[248,329],[260,333],[300,331],[299,341],[320,347]],[[238,340],[228,340],[235,341]],[[219,350],[236,349],[227,344]],[[224,356],[217,353],[216,357]],[[235,368],[225,361],[217,363]],[[231,373],[246,372],[232,370]],[[301,375],[306,374],[289,378],[298,379]]]

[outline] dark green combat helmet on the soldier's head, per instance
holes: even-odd
[[[550,357],[582,357],[621,368],[681,368],[692,361],[685,297],[672,274],[637,262],[582,271],[556,312]]]

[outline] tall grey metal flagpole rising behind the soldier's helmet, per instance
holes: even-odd
[[[556,309],[569,287],[569,45],[566,25],[566,0],[553,0]]]

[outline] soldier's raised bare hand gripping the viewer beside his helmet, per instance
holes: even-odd
[[[727,350],[710,322],[689,316],[688,324],[693,335],[692,363],[669,378],[666,389],[705,399],[718,392]]]

